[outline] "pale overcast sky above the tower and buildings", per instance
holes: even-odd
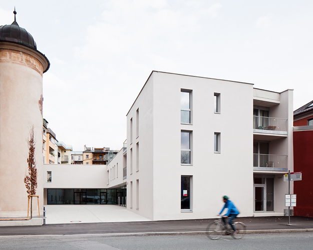
[[[293,110],[313,99],[311,0],[2,0],[0,25],[14,7],[51,63],[44,118],[75,151],[123,146],[152,70],[291,88]]]

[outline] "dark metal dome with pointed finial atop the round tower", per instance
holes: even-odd
[[[11,25],[9,24],[0,26],[0,41],[14,42],[33,49],[37,49],[37,45],[33,36],[27,32],[25,28],[20,27],[17,23],[17,11],[15,11],[15,9],[13,13],[14,22],[12,22]]]

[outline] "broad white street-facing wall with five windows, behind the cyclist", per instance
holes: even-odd
[[[241,216],[253,197],[252,84],[154,72],[154,219],[215,217],[228,195]],[[180,123],[180,91],[192,90],[192,125]],[[214,92],[221,112],[214,113]],[[180,131],[192,130],[192,166],[180,163]],[[214,132],[221,153],[214,153]],[[156,157],[162,155],[162,157]],[[192,175],[192,212],[181,212],[181,175]]]

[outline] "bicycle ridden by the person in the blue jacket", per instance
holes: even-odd
[[[220,217],[206,227],[207,236],[209,239],[219,239],[222,235],[230,235],[236,239],[242,238],[246,230],[246,225],[240,221],[234,222],[233,225],[236,228],[235,232],[228,223],[224,225]]]

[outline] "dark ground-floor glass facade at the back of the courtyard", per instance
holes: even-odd
[[[106,188],[48,188],[47,204],[119,204],[126,206],[126,186]]]

